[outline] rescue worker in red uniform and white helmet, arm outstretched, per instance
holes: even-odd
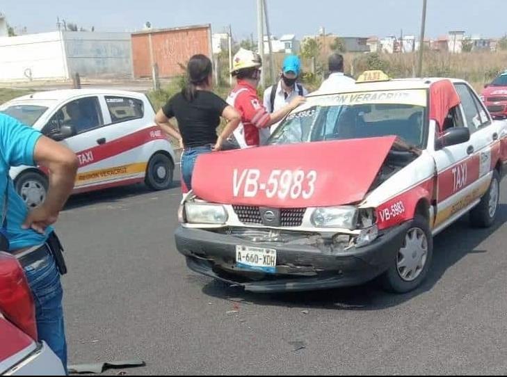
[[[295,97],[282,109],[268,113],[257,95],[262,66],[259,54],[240,49],[232,64],[232,75],[236,77],[237,84],[227,103],[241,114],[241,125],[234,131],[234,137],[242,148],[264,145],[270,136],[269,127],[303,104],[305,97]]]

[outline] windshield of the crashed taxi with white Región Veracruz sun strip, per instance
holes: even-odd
[[[426,90],[388,90],[309,97],[275,130],[270,145],[396,135],[426,144]]]

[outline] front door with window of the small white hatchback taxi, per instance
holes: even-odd
[[[107,162],[102,161],[105,152],[103,126],[104,113],[99,96],[88,96],[63,104],[42,129],[43,134],[55,138],[77,154],[77,189],[108,180],[108,176],[104,175]],[[71,134],[62,136],[64,127],[70,127]]]

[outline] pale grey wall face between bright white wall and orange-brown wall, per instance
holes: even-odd
[[[131,77],[130,33],[64,31],[67,65],[72,77]]]

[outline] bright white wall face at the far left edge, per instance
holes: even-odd
[[[0,38],[0,81],[67,79],[61,33]]]

